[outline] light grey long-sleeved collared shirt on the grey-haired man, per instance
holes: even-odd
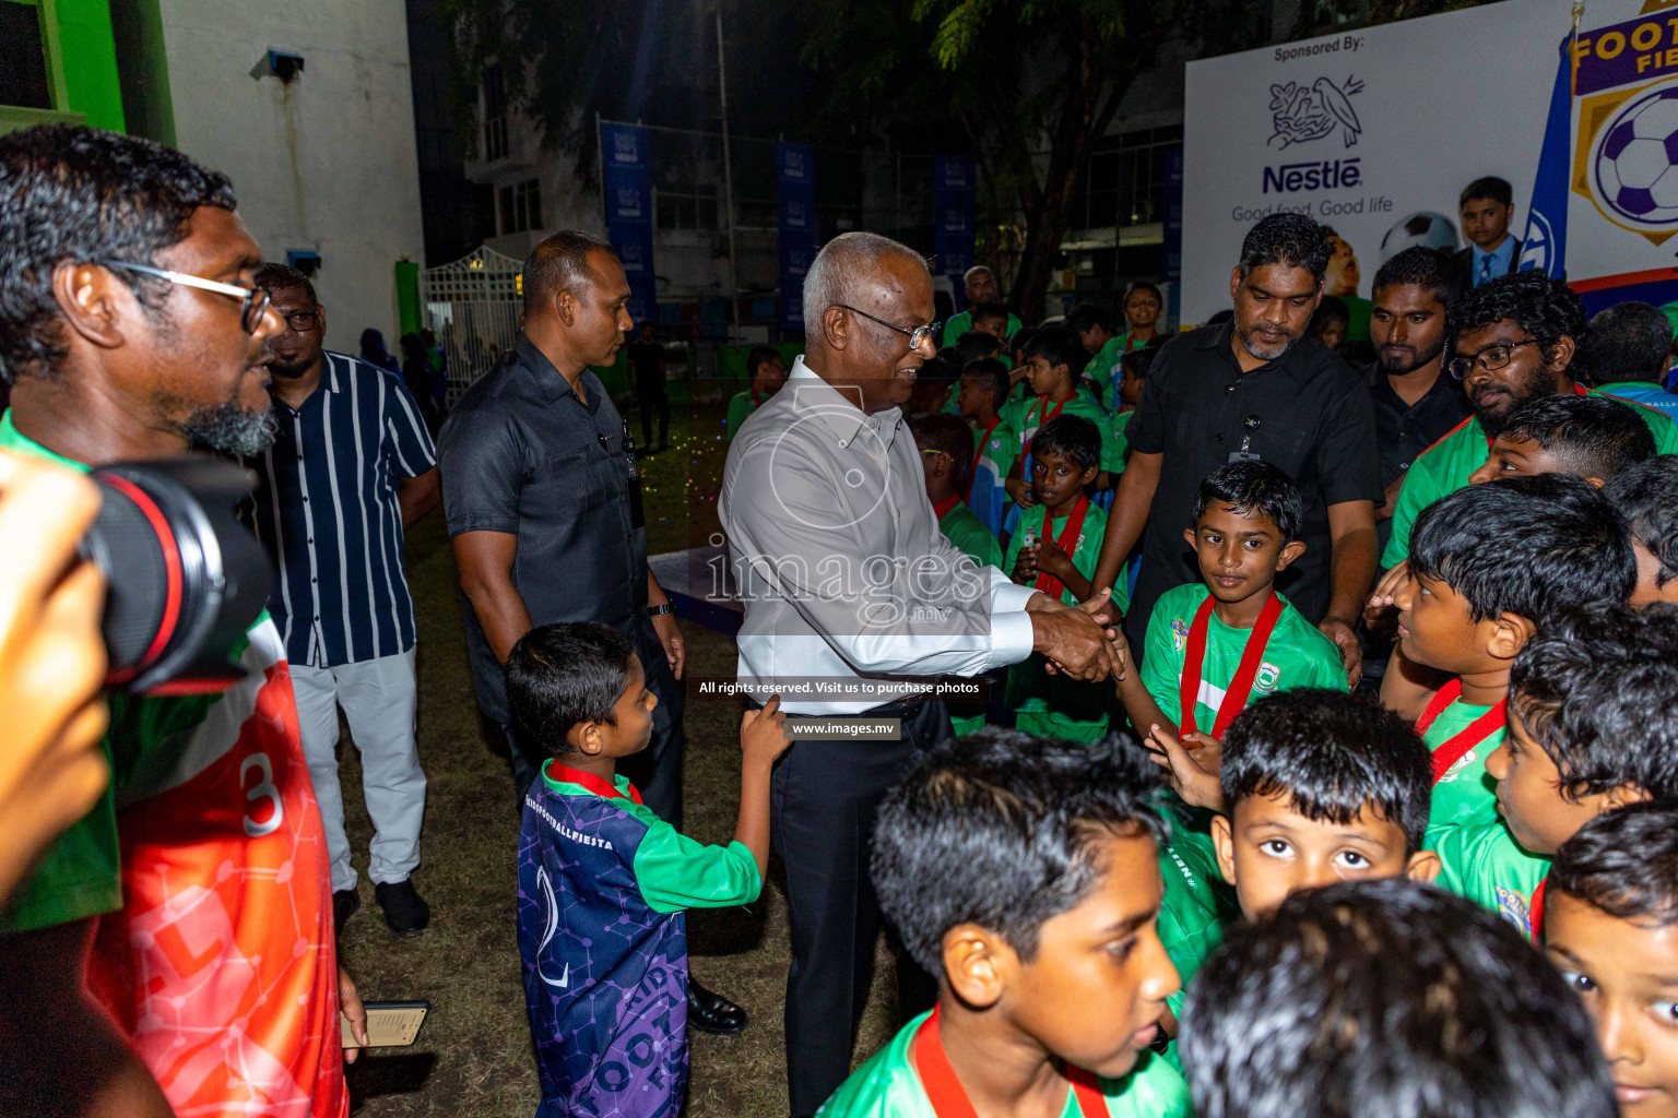
[[[745,602],[738,675],[774,684],[789,714],[857,714],[903,694],[862,701],[857,681],[930,689],[1032,652],[1035,592],[938,531],[901,412],[864,414],[802,357],[728,448],[717,510]]]

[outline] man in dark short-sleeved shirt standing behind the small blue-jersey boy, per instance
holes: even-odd
[[[532,625],[602,622],[636,647],[658,696],[653,741],[618,771],[681,830],[683,645],[646,565],[646,523],[629,426],[589,365],[611,365],[634,327],[629,280],[611,245],[555,233],[524,267],[524,330],[443,424],[443,510],[465,595],[472,682],[512,746],[519,801],[550,743],[507,712],[502,664]],[[738,1033],[745,1011],[688,984],[688,1021]]]

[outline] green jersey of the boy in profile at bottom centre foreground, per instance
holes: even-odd
[[[938,1118],[915,1068],[915,1034],[930,1014],[898,1031],[891,1043],[856,1069],[817,1118]],[[1191,1118],[1188,1084],[1153,1053],[1141,1053],[1123,1079],[1096,1079],[1109,1118]],[[1082,1118],[1077,1096],[1066,1093],[1060,1118]]]

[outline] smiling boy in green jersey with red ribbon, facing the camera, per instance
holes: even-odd
[[[1253,697],[1346,687],[1334,642],[1275,592],[1275,577],[1305,551],[1302,505],[1299,486],[1270,463],[1230,463],[1200,483],[1183,540],[1205,582],[1159,595],[1143,670],[1119,681],[1139,734],[1217,746]]]

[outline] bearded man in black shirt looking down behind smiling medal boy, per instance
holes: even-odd
[[[1352,625],[1374,580],[1381,486],[1368,391],[1339,357],[1305,337],[1327,263],[1327,238],[1316,221],[1292,213],[1264,218],[1248,230],[1230,273],[1233,318],[1171,340],[1149,370],[1096,568],[1096,587],[1111,587],[1143,538],[1141,577],[1124,620],[1136,654],[1159,595],[1200,582],[1195,553],[1183,543],[1200,479],[1225,463],[1257,458],[1285,469],[1305,498],[1305,553],[1277,588],[1334,640],[1347,679],[1358,679],[1363,657]]]

